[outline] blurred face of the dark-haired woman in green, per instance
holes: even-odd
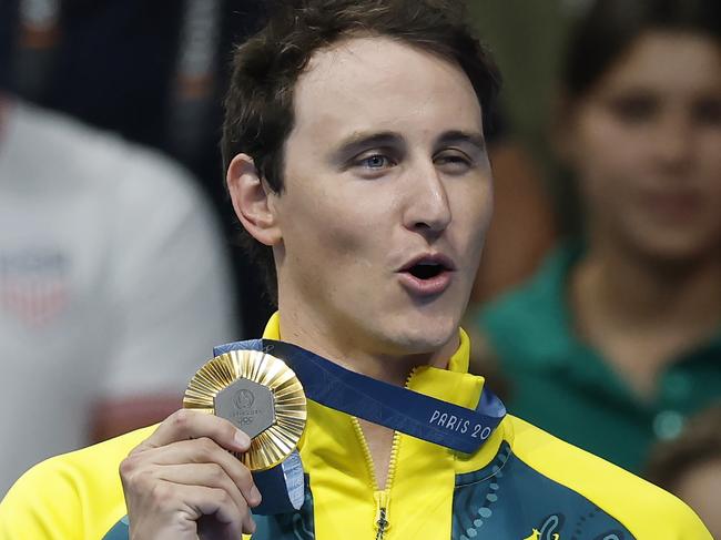
[[[653,262],[721,249],[721,47],[648,31],[568,111],[591,242]]]

